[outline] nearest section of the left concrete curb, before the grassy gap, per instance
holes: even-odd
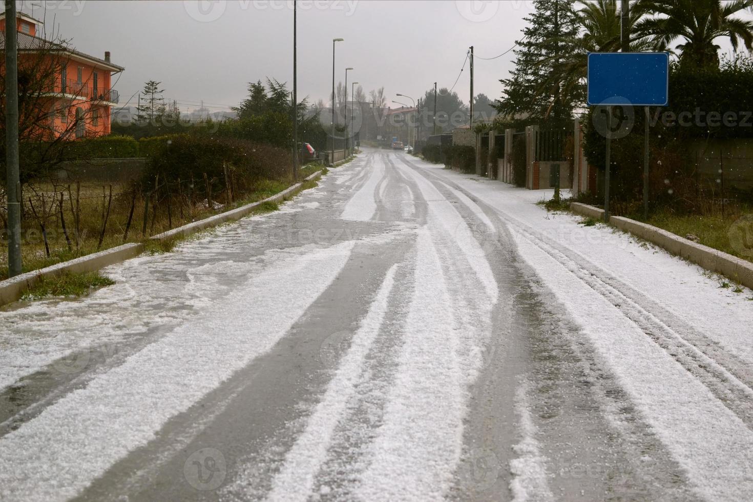
[[[139,256],[144,245],[138,242],[124,244],[117,248],[105,249],[99,253],[87,254],[62,263],[47,266],[44,269],[32,270],[14,278],[0,281],[0,306],[19,300],[29,288],[32,288],[42,277],[55,277],[63,272],[96,272],[105,266],[114,265]]]

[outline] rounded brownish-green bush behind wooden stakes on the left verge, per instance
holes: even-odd
[[[151,154],[144,174],[147,187],[159,175],[170,181],[193,179],[195,190],[203,192],[206,174],[212,192],[218,193],[226,183],[225,166],[238,192],[253,190],[262,180],[291,177],[291,152],[271,145],[207,135],[175,135],[165,145]]]

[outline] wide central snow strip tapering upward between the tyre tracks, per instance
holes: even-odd
[[[359,500],[439,500],[462,451],[465,376],[456,357],[450,294],[426,228],[416,241],[416,282],[404,345]]]

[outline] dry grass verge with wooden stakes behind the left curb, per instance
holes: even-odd
[[[300,169],[300,178],[311,175],[321,169],[317,165],[304,166]],[[253,184],[253,190],[248,193],[239,193],[233,198],[233,201],[227,203],[227,193],[215,193],[212,199],[219,202],[221,208],[208,208],[206,199],[197,200],[184,196],[178,196],[172,193],[171,197],[162,196],[157,203],[156,216],[154,206],[150,201],[148,218],[145,226],[145,196],[136,190],[136,198],[133,197],[134,186],[130,184],[113,184],[112,185],[112,202],[110,205],[110,214],[107,219],[105,234],[102,236],[100,245],[100,234],[102,232],[102,223],[104,221],[103,213],[107,213],[109,199],[109,185],[105,187],[105,199],[102,198],[102,184],[81,184],[78,191],[74,186],[71,187],[69,196],[68,187],[53,184],[38,184],[34,190],[31,188],[25,190],[24,219],[22,222],[22,256],[23,271],[29,272],[45,266],[54,265],[63,261],[72,260],[77,257],[95,253],[102,249],[114,248],[126,242],[147,242],[148,237],[163,233],[181,225],[199,221],[208,218],[222,211],[227,211],[241,205],[258,202],[266,199],[276,193],[285,190],[293,184],[292,179],[285,180],[260,180]],[[309,185],[309,183],[306,183]],[[308,188],[309,186],[304,187]],[[63,202],[63,218],[68,234],[62,230],[62,221],[60,218],[59,202]],[[44,194],[44,209],[43,206]],[[32,198],[38,218],[35,218],[28,198]],[[75,222],[76,202],[78,201],[78,231]],[[73,202],[73,204],[71,203]],[[3,204],[5,205],[5,204]],[[133,206],[133,217],[130,218],[131,224],[126,236],[129,216]],[[264,205],[260,211],[273,211],[277,208],[276,204]],[[0,215],[2,218],[4,215]],[[40,221],[44,223],[47,231],[47,248],[41,233]],[[0,221],[5,227],[5,218]],[[146,230],[144,230],[146,227]],[[70,240],[70,244],[69,244]],[[169,252],[175,246],[175,241],[162,242],[158,245],[149,243],[151,252]],[[8,242],[3,236],[0,239],[0,280],[8,278]]]

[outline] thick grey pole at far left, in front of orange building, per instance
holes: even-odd
[[[21,273],[21,183],[18,166],[18,47],[16,2],[5,0],[5,166],[8,199],[8,277]]]

